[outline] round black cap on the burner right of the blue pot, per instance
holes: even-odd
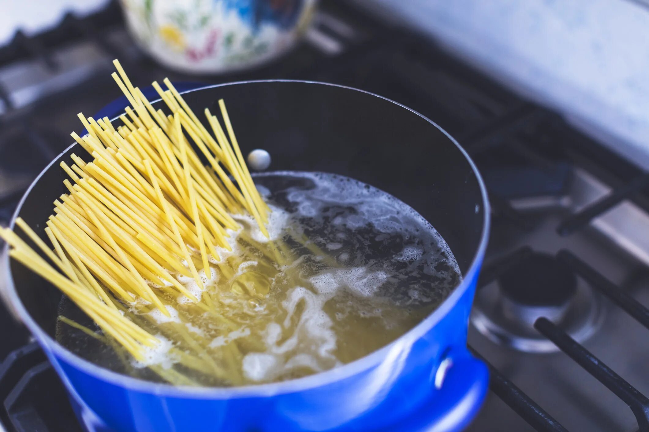
[[[531,253],[498,279],[502,295],[524,306],[563,306],[577,291],[572,269],[546,253]]]

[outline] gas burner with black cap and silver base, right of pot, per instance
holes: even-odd
[[[492,341],[527,352],[559,348],[533,327],[540,317],[582,342],[601,321],[596,293],[554,256],[532,253],[476,293],[472,323]]]

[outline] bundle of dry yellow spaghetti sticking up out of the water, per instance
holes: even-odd
[[[107,117],[79,114],[88,134],[72,136],[92,161],[73,153],[70,163],[60,163],[70,177],[64,181],[69,193],[54,201],[47,221],[51,247],[16,220],[47,259],[9,229],[0,236],[13,258],[58,287],[105,335],[141,360],[160,340],[125,310],[157,308],[169,316],[165,306],[182,297],[214,312],[207,292],[199,301],[180,279],[191,278],[202,290],[212,271],[229,271],[219,263],[219,251],[231,249],[229,233],[239,229],[232,215],[249,212],[267,236],[269,207],[252,182],[223,100],[225,130],[204,111],[210,133],[169,80],[166,90],[153,83],[167,114],[131,84],[117,60],[114,64],[119,74],[112,76],[130,107],[117,128]],[[267,253],[277,251],[269,245]],[[210,368],[210,361],[179,355],[189,367]]]

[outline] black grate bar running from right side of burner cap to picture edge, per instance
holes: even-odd
[[[613,282],[606,279],[602,273],[599,273],[569,251],[559,251],[557,258],[572,267],[593,288],[606,295],[606,297],[624,309],[639,323],[643,324],[643,326],[649,328],[649,309],[645,308],[640,302],[613,284]]]

